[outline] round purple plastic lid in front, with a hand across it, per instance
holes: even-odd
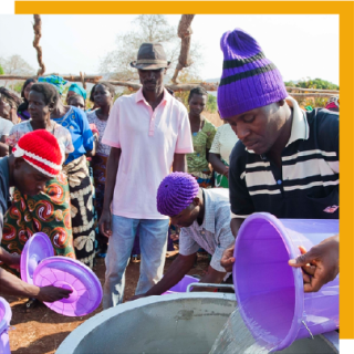
[[[102,300],[102,285],[96,274],[82,262],[66,257],[43,260],[34,271],[33,283],[73,291],[69,299],[44,302],[48,308],[65,316],[86,315],[97,309]]]

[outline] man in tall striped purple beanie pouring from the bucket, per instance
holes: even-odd
[[[278,218],[339,219],[339,114],[300,110],[277,66],[244,31],[226,32],[220,44],[218,106],[239,138],[229,168],[233,236],[257,211]],[[332,241],[337,240],[335,236]],[[221,264],[228,268],[232,249],[223,256]],[[311,275],[313,287],[306,285],[306,291],[319,289],[321,275]]]

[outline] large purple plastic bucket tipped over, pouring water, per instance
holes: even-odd
[[[248,217],[236,239],[233,284],[242,319],[256,341],[280,351],[295,340],[339,327],[339,277],[316,293],[304,293],[302,271],[288,264],[325,238],[339,220]]]

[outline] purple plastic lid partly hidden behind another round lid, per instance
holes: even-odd
[[[50,238],[44,232],[34,233],[24,244],[21,253],[21,279],[33,284],[33,273],[45,258],[54,256]]]

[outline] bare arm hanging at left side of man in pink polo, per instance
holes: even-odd
[[[112,235],[111,228],[111,202],[113,199],[113,192],[115,187],[115,180],[118,171],[118,165],[121,159],[122,149],[112,147],[106,167],[106,185],[104,190],[104,201],[102,216],[100,218],[100,231],[105,236]]]

